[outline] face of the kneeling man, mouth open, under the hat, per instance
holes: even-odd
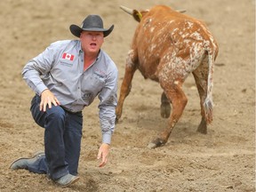
[[[80,40],[85,54],[98,54],[104,42],[104,35],[100,31],[83,31]]]

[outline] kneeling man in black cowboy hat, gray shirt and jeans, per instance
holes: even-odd
[[[46,173],[63,187],[79,180],[82,110],[96,96],[102,131],[97,158],[101,158],[100,167],[107,164],[116,119],[118,72],[100,47],[113,28],[103,28],[99,15],[89,15],[81,28],[69,28],[79,40],[55,42],[23,68],[24,80],[36,92],[30,110],[36,124],[44,127],[44,152],[17,159],[10,166],[12,170]]]

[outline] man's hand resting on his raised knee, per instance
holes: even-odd
[[[53,93],[46,89],[41,93],[41,102],[40,102],[40,111],[46,111],[48,105],[49,108],[52,108],[52,103],[54,106],[60,105],[60,101],[53,95]]]

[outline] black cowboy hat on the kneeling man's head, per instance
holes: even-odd
[[[103,21],[101,20],[99,15],[88,15],[82,25],[81,28],[77,25],[70,25],[69,29],[74,36],[80,37],[80,34],[83,30],[85,31],[102,31],[105,36],[108,36],[114,28],[112,25],[110,28],[103,28]]]

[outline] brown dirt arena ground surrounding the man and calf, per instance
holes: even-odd
[[[80,25],[87,14],[96,13],[106,28],[115,24],[103,49],[116,62],[120,88],[137,25],[120,4],[136,9],[166,4],[207,23],[220,44],[208,134],[196,132],[201,120],[199,97],[193,77],[188,76],[184,84],[188,105],[180,122],[164,147],[147,148],[167,120],[160,116],[160,86],[137,72],[104,168],[96,160],[101,134],[95,100],[84,109],[80,180],[75,185],[60,188],[45,175],[11,171],[14,159],[44,149],[44,130],[29,111],[34,92],[22,80],[21,69],[52,42],[75,38],[69,25]],[[0,10],[1,192],[255,191],[255,1],[4,0]]]

